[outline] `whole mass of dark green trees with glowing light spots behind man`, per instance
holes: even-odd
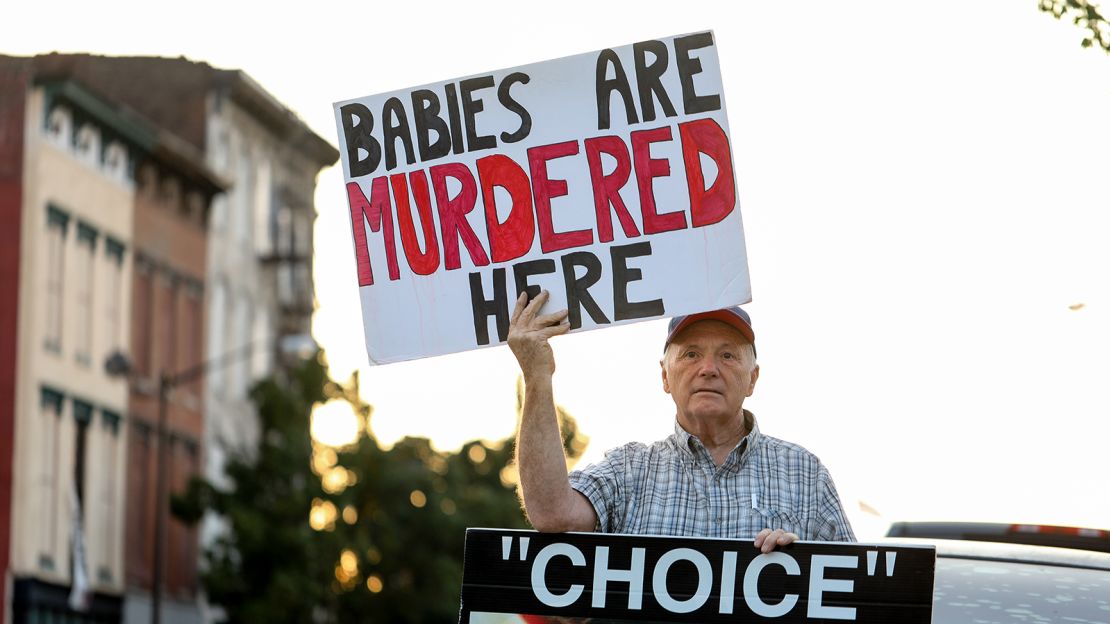
[[[342,399],[363,419],[372,412],[357,378],[335,383],[322,361],[254,389],[262,435],[229,462],[230,487],[196,480],[173,500],[182,520],[211,512],[226,524],[205,552],[209,601],[231,622],[456,622],[465,530],[527,526],[513,440],[441,453],[423,437],[386,450],[364,432],[337,453],[314,445],[314,404]],[[562,409],[559,417],[576,457],[585,439]]]

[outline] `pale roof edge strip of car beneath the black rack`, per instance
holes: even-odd
[[[1094,551],[925,537],[885,537],[881,543],[909,546],[931,544],[937,547],[937,557],[1086,567],[1110,572],[1110,554]]]

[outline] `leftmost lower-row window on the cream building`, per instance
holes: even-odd
[[[46,570],[53,570],[54,553],[58,545],[58,504],[59,491],[59,452],[60,452],[60,430],[62,420],[62,401],[64,395],[53,389],[43,386],[41,389],[39,407],[42,419],[39,427],[41,436],[39,439],[39,514],[42,522],[40,526],[39,542],[39,566]]]

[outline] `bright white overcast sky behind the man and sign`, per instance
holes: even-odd
[[[335,101],[713,29],[763,432],[886,521],[1110,529],[1110,57],[1080,29],[1036,0],[412,7],[24,2],[0,52],[242,69],[334,144]],[[375,434],[511,434],[504,346],[367,366],[339,168],[316,208],[314,335],[334,375],[361,370]],[[553,342],[584,461],[672,431],[664,333]]]

